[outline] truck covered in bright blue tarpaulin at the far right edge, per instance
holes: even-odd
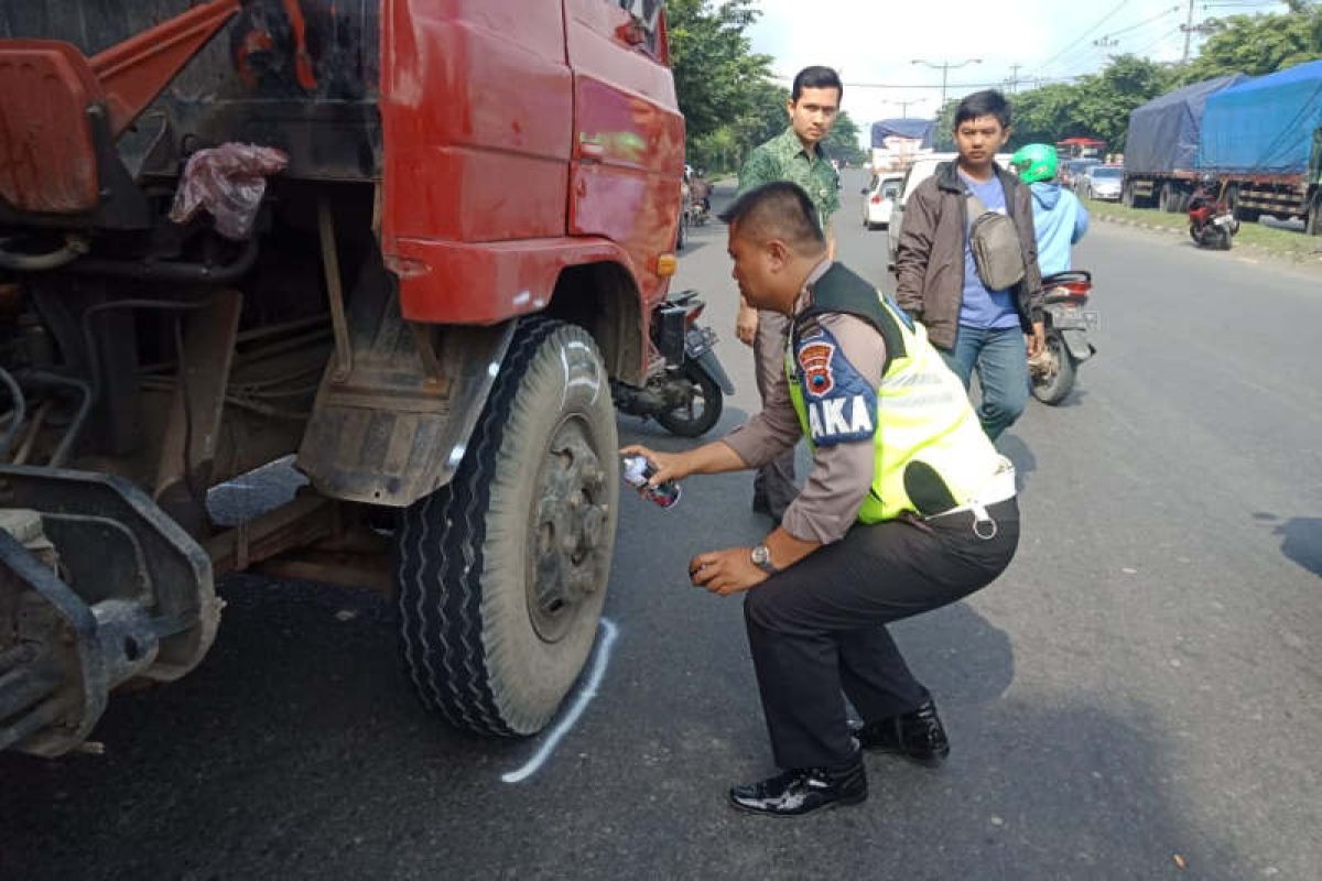
[[[1302,218],[1322,234],[1322,61],[1210,96],[1196,166],[1220,180],[1240,219]]]

